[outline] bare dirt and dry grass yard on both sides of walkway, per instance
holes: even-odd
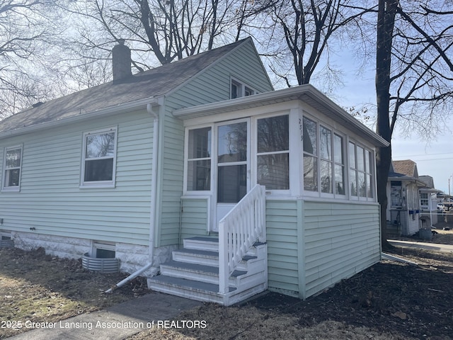
[[[453,244],[452,230],[437,232],[432,242]],[[205,303],[175,320],[206,327],[150,329],[130,340],[453,339],[453,254],[392,252],[419,266],[382,261],[305,301],[268,293],[233,307]],[[43,249],[0,249],[0,338],[24,331],[11,327],[17,320],[56,322],[149,293],[142,278],[103,293],[122,278],[85,271],[80,261]]]

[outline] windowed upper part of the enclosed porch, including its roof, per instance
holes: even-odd
[[[207,232],[256,184],[267,198],[377,201],[374,148],[384,140],[313,86],[174,115],[185,125],[183,198],[208,200]]]

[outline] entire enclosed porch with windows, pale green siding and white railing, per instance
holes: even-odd
[[[218,242],[220,295],[305,298],[379,261],[374,149],[386,142],[313,86],[173,115],[185,128],[180,242]],[[232,285],[257,244],[260,268]]]

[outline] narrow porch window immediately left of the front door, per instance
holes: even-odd
[[[211,190],[211,128],[189,130],[188,191]]]

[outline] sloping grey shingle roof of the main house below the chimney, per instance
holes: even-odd
[[[249,40],[251,38],[239,40],[214,50],[134,74],[118,83],[110,81],[33,106],[2,120],[0,135],[2,132],[10,134],[22,128],[39,126],[106,108],[115,108],[125,103],[164,96]]]

